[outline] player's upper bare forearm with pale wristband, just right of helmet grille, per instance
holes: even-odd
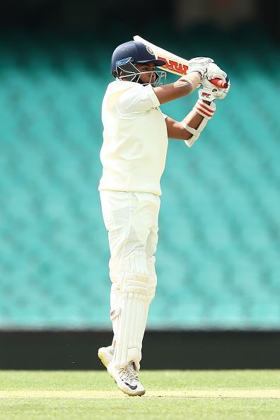
[[[161,104],[170,102],[182,96],[189,95],[194,89],[196,89],[202,81],[202,76],[194,71],[179,78],[175,83],[169,83],[168,85],[158,86],[153,88],[158,100]]]

